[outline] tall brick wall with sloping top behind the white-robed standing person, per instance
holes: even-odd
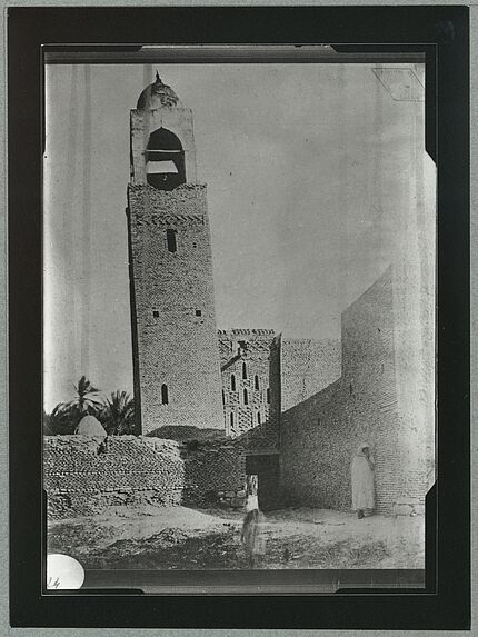
[[[392,270],[342,315],[342,375],[281,417],[281,484],[290,502],[350,510],[350,461],[369,441],[376,461],[377,509],[422,502],[424,469],[404,464],[414,431],[397,400]],[[412,438],[420,445],[419,436]]]

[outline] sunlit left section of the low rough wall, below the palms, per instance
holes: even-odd
[[[89,515],[110,505],[178,505],[185,481],[172,440],[112,436],[47,436],[43,487],[49,516]]]

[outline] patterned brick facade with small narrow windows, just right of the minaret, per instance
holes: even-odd
[[[220,330],[225,427],[250,450],[278,449],[279,340],[271,329]]]

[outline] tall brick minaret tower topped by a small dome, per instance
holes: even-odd
[[[156,81],[131,111],[128,230],[138,430],[223,428],[206,185],[192,112]]]

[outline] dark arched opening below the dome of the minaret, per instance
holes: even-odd
[[[148,183],[158,190],[172,190],[186,183],[185,151],[170,130],[161,127],[149,136],[146,172]]]

